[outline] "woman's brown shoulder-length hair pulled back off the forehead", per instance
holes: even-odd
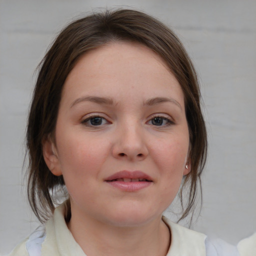
[[[190,137],[191,171],[183,178],[180,189],[183,210],[180,219],[193,209],[197,184],[201,189],[200,174],[207,148],[195,70],[181,42],[169,28],[145,13],[118,9],[93,13],[71,22],[59,33],[38,66],[26,141],[29,155],[28,199],[40,221],[46,220],[54,210],[52,193],[64,187],[62,175],[53,175],[42,155],[42,140],[54,132],[64,81],[85,52],[123,40],[139,42],[155,51],[166,62],[182,88]],[[185,185],[189,193],[184,206],[182,191]]]

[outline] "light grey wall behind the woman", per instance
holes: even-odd
[[[22,171],[33,71],[72,17],[119,5],[171,26],[198,70],[209,153],[192,227],[233,244],[256,231],[255,0],[0,0],[0,254],[38,224]]]

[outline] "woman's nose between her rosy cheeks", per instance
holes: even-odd
[[[144,132],[140,125],[127,125],[116,130],[112,154],[118,159],[143,160],[148,155]]]

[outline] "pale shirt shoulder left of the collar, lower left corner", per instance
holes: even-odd
[[[43,226],[37,227],[27,238],[20,242],[7,256],[40,256],[41,244],[45,238]]]

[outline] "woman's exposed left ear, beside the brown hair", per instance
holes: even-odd
[[[62,175],[56,146],[50,135],[42,140],[42,155],[51,173],[56,176]]]

